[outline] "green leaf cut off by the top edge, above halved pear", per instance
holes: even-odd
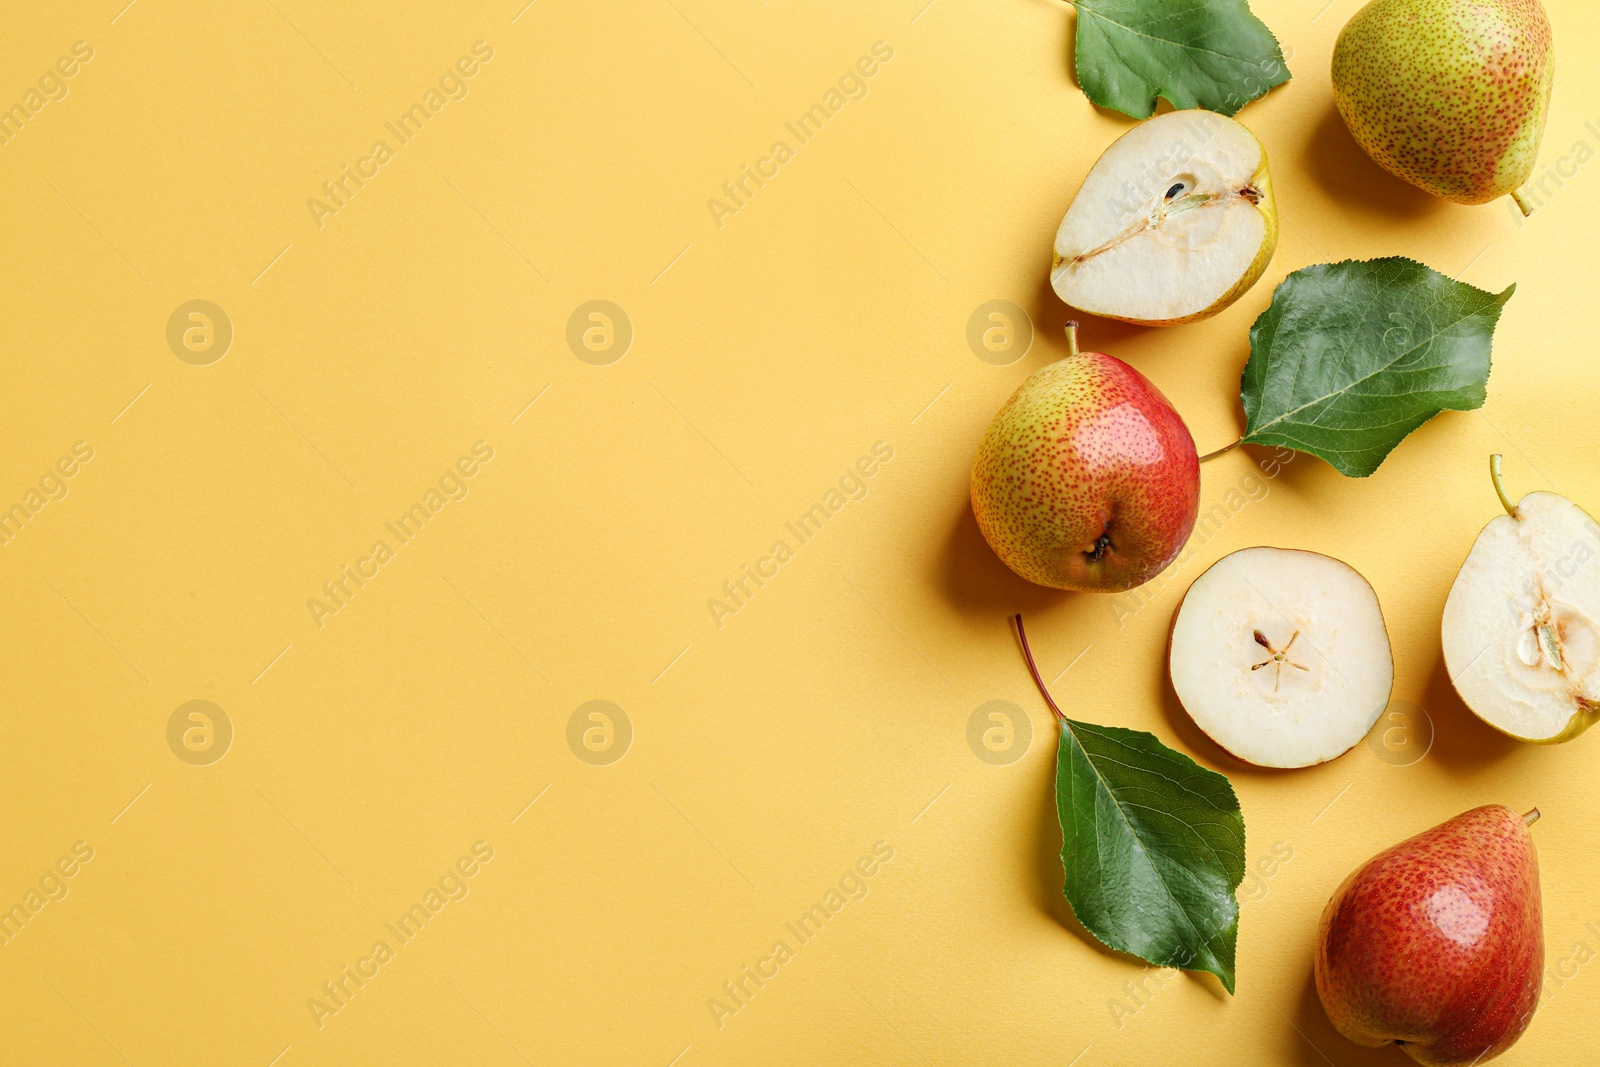
[[[1232,115],[1290,80],[1272,30],[1246,0],[1072,0],[1078,85],[1134,118],[1173,107]]]

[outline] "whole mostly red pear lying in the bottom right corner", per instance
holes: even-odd
[[[1474,808],[1379,853],[1322,913],[1317,995],[1357,1045],[1482,1064],[1539,1006],[1544,918],[1534,808]]]

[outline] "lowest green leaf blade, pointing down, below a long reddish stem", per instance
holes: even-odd
[[[1056,813],[1083,928],[1234,992],[1245,816],[1229,781],[1154,734],[1062,718]]]

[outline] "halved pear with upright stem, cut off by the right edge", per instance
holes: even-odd
[[[1490,726],[1568,741],[1600,718],[1600,528],[1555,493],[1530,493],[1472,542],[1445,601],[1442,641],[1456,693]]]

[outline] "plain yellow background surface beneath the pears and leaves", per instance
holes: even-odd
[[[1358,152],[1326,74],[1355,0],[1258,0],[1296,74],[1240,115],[1270,154],[1277,258],[1216,318],[1088,320],[1085,347],[1147,373],[1210,450],[1240,430],[1248,328],[1288,272],[1410,254],[1520,288],[1483,411],[1429,422],[1368,480],[1294,459],[1118,619],[1013,577],[966,502],[990,416],[1066,350],[1050,242],[1130,125],[1075,88],[1070,8],[122,3],[11,5],[0,38],[5,102],[74,42],[94,50],[0,146],[0,504],[94,450],[0,547],[0,902],[94,849],[0,945],[5,1062],[1398,1064],[1323,1019],[1317,917],[1370,854],[1490,801],[1546,814],[1550,963],[1600,947],[1600,737],[1501,739],[1438,646],[1498,510],[1490,451],[1514,493],[1600,507],[1594,5],[1549,3],[1541,165],[1570,157],[1570,176],[1523,222]],[[493,59],[467,96],[398,146],[384,123],[475,42]],[[707,198],[875,42],[893,59],[869,94],[718,227]],[[318,227],[307,200],[376,139],[395,157]],[[166,344],[192,299],[234,325],[206,366]],[[634,328],[606,366],[565,339],[592,299]],[[965,339],[990,299],[1037,325],[1010,366]],[[390,541],[318,627],[322,582],[475,442],[494,458],[466,499]],[[875,442],[893,461],[867,498],[718,629],[707,598]],[[1206,464],[1203,507],[1267,459]],[[1371,579],[1395,699],[1437,728],[1426,758],[1358,745],[1266,773],[1187,723],[1163,680],[1171,609],[1250,544]],[[1070,918],[1014,609],[1046,677],[1082,654],[1056,685],[1070,713],[1226,771],[1251,864],[1293,854],[1242,889],[1237,997],[1152,979]],[[208,766],[166,741],[194,699],[234,726]],[[634,729],[606,766],[568,747],[592,699]],[[968,747],[992,699],[1030,718],[1010,765]],[[475,841],[494,859],[470,893],[318,1027],[307,1000]],[[866,899],[792,942],[784,921],[877,841],[894,854]],[[718,1027],[709,998],[779,939],[794,958]],[[1552,982],[1504,1062],[1584,1062],[1597,997],[1600,968]]]

